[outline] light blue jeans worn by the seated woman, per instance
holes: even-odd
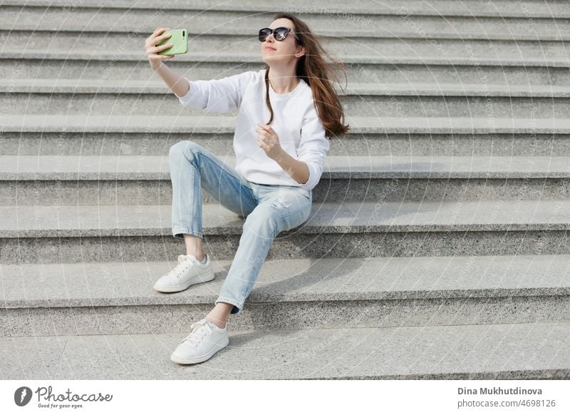
[[[183,240],[186,233],[204,238],[202,188],[245,218],[234,261],[214,302],[234,304],[231,314],[242,312],[274,237],[309,218],[313,191],[250,182],[209,150],[187,140],[170,148],[170,179],[174,237]]]

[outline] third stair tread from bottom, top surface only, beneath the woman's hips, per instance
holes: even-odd
[[[172,237],[168,205],[0,206],[1,237]],[[41,218],[41,220],[38,220]],[[240,235],[244,220],[202,205],[205,235]],[[570,200],[314,203],[302,234],[569,230]]]

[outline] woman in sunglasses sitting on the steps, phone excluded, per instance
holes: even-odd
[[[312,189],[321,178],[328,137],[348,132],[341,103],[329,81],[334,73],[309,27],[280,13],[259,31],[266,66],[210,81],[188,81],[158,55],[170,43],[167,29],[155,31],[145,45],[151,67],[183,106],[207,112],[239,110],[234,134],[236,167],[222,163],[206,148],[180,141],[170,148],[172,235],[185,240],[187,255],[155,284],[159,292],[186,290],[214,278],[202,249],[202,193],[245,217],[239,247],[215,307],[178,344],[170,359],[204,362],[229,344],[229,314],[242,312],[274,237],[303,224],[311,213]],[[328,55],[327,55],[328,56]],[[330,57],[330,56],[329,56]]]

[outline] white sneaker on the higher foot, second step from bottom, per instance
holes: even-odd
[[[178,264],[155,283],[158,292],[184,291],[190,285],[214,280],[214,270],[209,255],[202,264],[194,255],[178,255]]]

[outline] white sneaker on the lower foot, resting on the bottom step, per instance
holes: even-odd
[[[211,325],[210,325],[211,324]],[[192,332],[182,340],[170,355],[170,360],[178,364],[204,362],[229,344],[226,327],[220,329],[216,324],[201,319],[192,323]]]

